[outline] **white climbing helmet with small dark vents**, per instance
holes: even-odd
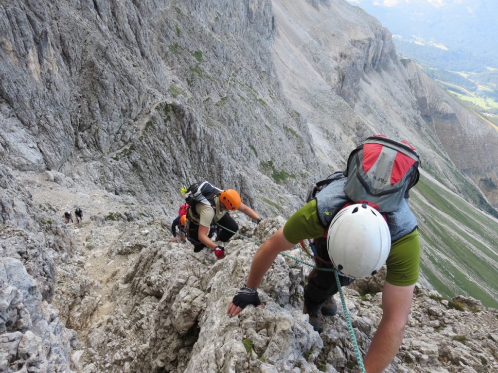
[[[330,223],[329,257],[348,277],[375,275],[387,260],[390,248],[391,235],[384,217],[366,203],[343,208]]]

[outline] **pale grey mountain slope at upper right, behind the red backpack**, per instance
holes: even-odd
[[[273,2],[279,26],[273,54],[284,92],[307,119],[319,158],[342,170],[363,138],[392,134],[410,139],[426,169],[461,195],[477,187],[462,183],[459,172],[476,186],[482,178],[494,180],[495,128],[458,105],[413,62],[399,60],[389,31],[365,11],[342,1],[308,3]],[[496,190],[483,192],[494,204]]]

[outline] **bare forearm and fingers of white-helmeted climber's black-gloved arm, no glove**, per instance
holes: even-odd
[[[252,287],[254,290],[259,287],[263,276],[271,267],[275,258],[281,251],[289,250],[294,247],[294,244],[286,240],[283,235],[283,227],[276,231],[269,239],[267,239],[257,250],[249,270],[249,278],[246,285]],[[237,315],[242,311],[241,307],[237,307],[230,302],[228,307],[228,314],[230,316]]]

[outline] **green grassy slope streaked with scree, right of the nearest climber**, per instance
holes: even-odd
[[[421,273],[445,296],[498,308],[498,220],[429,177],[411,192],[422,240]]]

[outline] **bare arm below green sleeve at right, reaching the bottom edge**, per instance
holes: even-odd
[[[368,373],[383,372],[398,352],[408,321],[414,288],[415,285],[396,286],[384,283],[382,319],[365,357],[365,369]]]

